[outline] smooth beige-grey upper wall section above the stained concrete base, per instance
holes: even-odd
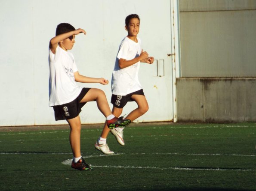
[[[182,77],[256,76],[256,0],[180,0]]]

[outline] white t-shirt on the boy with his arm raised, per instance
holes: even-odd
[[[62,105],[73,101],[80,94],[74,79],[77,66],[72,53],[59,45],[55,54],[49,49],[49,106]]]

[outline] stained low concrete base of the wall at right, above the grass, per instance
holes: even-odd
[[[255,78],[178,78],[178,121],[256,121]]]

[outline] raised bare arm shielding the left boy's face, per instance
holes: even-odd
[[[50,40],[49,48],[51,49],[52,53],[55,54],[55,50],[59,42],[67,39],[69,36],[78,35],[80,33],[86,34],[85,30],[79,28],[77,30],[70,31],[68,33],[57,35]]]

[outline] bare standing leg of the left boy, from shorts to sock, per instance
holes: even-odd
[[[80,136],[81,136],[81,122],[80,117],[77,116],[73,119],[67,119],[68,124],[70,126],[70,134],[69,134],[69,142],[71,145],[71,149],[74,157],[81,156],[80,149]]]

